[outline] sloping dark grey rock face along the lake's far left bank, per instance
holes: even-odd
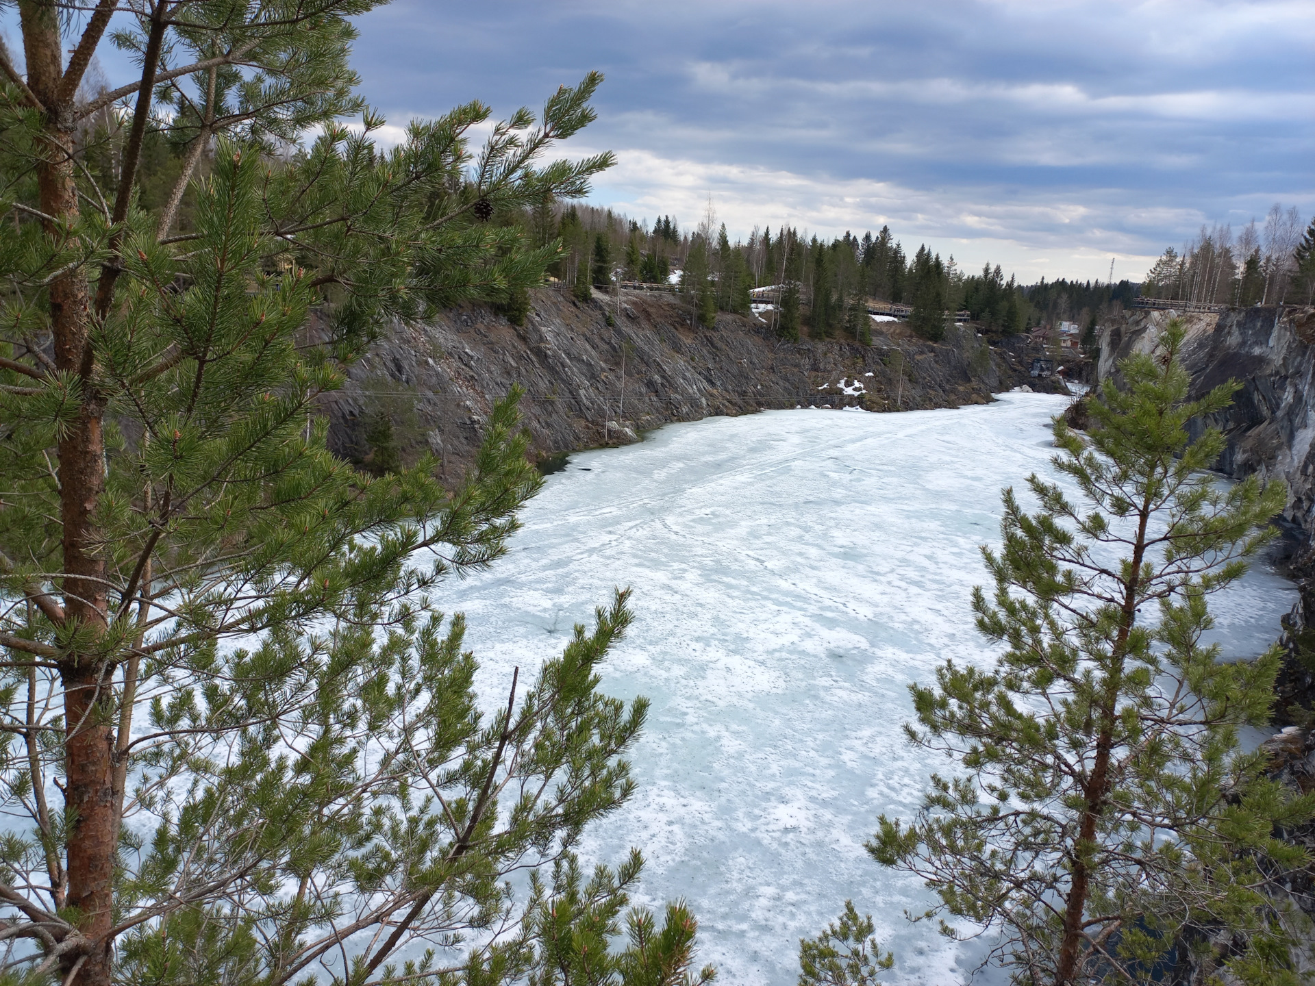
[[[663,293],[596,294],[577,302],[544,288],[523,326],[483,306],[389,326],[326,401],[330,447],[372,455],[371,422],[387,418],[405,460],[423,450],[455,480],[469,463],[493,401],[513,384],[540,459],[604,444],[673,421],[798,405],[910,410],[984,404],[1015,385],[1059,389],[1028,373],[1026,343],[989,347],[956,327],[943,343],[902,323],[873,326],[873,344],[789,343],[752,317],[690,326],[688,304]],[[888,333],[876,331],[889,329]]]

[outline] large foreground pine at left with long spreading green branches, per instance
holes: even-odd
[[[625,594],[493,714],[462,619],[430,607],[505,552],[539,486],[517,393],[454,489],[429,459],[354,469],[314,418],[387,321],[542,283],[558,246],[489,218],[577,199],[611,163],[539,163],[593,120],[601,78],[483,150],[479,103],[385,150],[380,117],[339,121],[363,108],[348,47],[370,7],[18,9],[28,75],[0,97],[0,716],[18,738],[0,747],[0,898],[25,981],[274,985],[348,953],[352,983],[435,962],[452,983],[523,977],[546,943],[504,878],[565,858],[633,789],[644,705],[597,690]],[[112,16],[141,75],[82,100]],[[107,184],[78,128],[125,99]],[[183,151],[147,212],[153,133]],[[417,943],[431,957],[398,965]]]

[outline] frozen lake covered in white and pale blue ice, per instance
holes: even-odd
[[[701,961],[730,985],[792,986],[798,939],[853,898],[896,952],[893,983],[944,986],[980,947],[910,926],[922,886],[873,862],[881,812],[909,818],[945,770],[910,748],[906,686],[947,657],[984,660],[969,592],[998,539],[999,492],[1051,472],[1049,418],[1066,398],[865,414],[767,411],[675,425],[572,456],[490,572],[450,582],[469,617],[481,693],[634,588],[629,638],[604,688],[652,701],[639,790],[593,830],[584,861],[648,865],[638,902],[689,901]],[[1220,599],[1231,656],[1278,634],[1295,590],[1255,571]]]

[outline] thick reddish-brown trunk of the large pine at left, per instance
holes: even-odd
[[[20,7],[28,87],[45,109],[42,159],[37,185],[46,233],[78,218],[74,174],[71,96],[62,99],[63,82],[59,20],[53,3],[28,0]],[[92,354],[88,346],[91,300],[87,273],[76,270],[50,285],[50,327],[55,365],[89,384]],[[97,548],[93,521],[104,490],[104,435],[101,402],[84,387],[76,421],[59,440],[59,497],[63,525],[63,578],[57,589],[64,598],[66,623],[85,627],[83,640],[95,642],[105,627],[105,564]],[[74,815],[67,841],[67,902],[79,912],[79,927],[93,944],[85,956],[70,953],[64,974],[82,958],[79,986],[105,986],[110,975],[113,927],[113,768],[108,688],[113,665],[95,646],[60,656],[64,688],[64,803]]]

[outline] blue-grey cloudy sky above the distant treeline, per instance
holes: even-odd
[[[890,229],[961,263],[1140,277],[1202,222],[1315,212],[1315,4],[396,0],[356,64],[391,122],[540,105],[589,68],[593,201],[732,235]]]

